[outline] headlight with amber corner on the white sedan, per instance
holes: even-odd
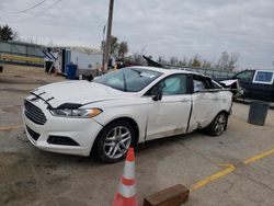
[[[64,110],[49,110],[49,112],[54,116],[92,118],[101,114],[103,111],[100,108],[77,108],[77,110],[64,108]]]

